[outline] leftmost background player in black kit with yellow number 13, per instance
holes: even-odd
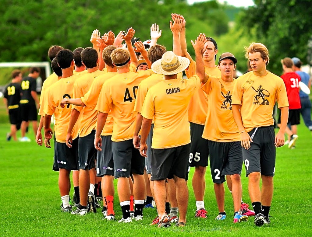
[[[7,107],[7,114],[11,123],[11,132],[7,133],[7,141],[11,140],[11,137],[17,141],[16,132],[21,128],[21,116],[20,116],[20,100],[21,100],[21,81],[22,72],[20,70],[14,70],[12,72],[12,82],[10,82],[4,90],[4,104]]]

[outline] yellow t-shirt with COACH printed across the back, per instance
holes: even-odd
[[[149,89],[141,115],[154,118],[152,148],[172,148],[191,142],[188,104],[200,86],[195,75],[187,80],[163,80]]]

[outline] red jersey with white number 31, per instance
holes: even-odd
[[[286,86],[289,109],[301,109],[299,97],[299,82],[300,76],[295,72],[284,73],[280,76]]]

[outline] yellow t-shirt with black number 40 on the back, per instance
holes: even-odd
[[[133,138],[137,116],[137,112],[133,110],[136,93],[139,83],[151,73],[149,70],[118,73],[104,83],[95,109],[102,113],[111,110],[114,120],[112,141]]]

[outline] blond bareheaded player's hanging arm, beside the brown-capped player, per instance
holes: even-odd
[[[235,120],[235,123],[238,127],[238,131],[240,133],[241,146],[248,150],[250,148],[250,143],[252,142],[252,140],[249,134],[246,132],[246,129],[243,125],[243,121],[241,119],[240,107],[241,105],[232,104],[232,113],[233,113],[233,118]]]

